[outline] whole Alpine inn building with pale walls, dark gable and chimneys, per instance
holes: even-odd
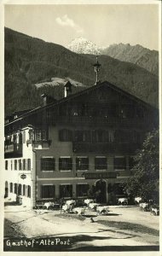
[[[136,149],[158,127],[158,111],[106,82],[6,119],[6,196],[38,201],[87,198],[113,203]]]

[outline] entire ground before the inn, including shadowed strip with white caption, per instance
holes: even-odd
[[[8,204],[5,218],[6,251],[105,251],[115,247],[143,247],[147,251],[148,247],[159,247],[159,216],[141,212],[139,207],[112,206],[103,216],[86,209],[81,216]],[[12,241],[19,246],[15,242],[13,246]]]

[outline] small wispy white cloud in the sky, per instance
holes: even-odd
[[[72,19],[68,18],[67,15],[57,17],[55,21],[61,26],[71,26],[76,32],[84,32],[83,29],[78,26]]]

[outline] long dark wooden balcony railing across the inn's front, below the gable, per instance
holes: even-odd
[[[133,153],[138,148],[138,143],[72,143],[74,153]]]

